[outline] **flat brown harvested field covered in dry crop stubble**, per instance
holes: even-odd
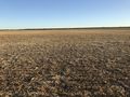
[[[0,31],[0,97],[130,97],[130,29]]]

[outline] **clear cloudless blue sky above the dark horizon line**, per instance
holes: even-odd
[[[0,0],[0,29],[130,26],[130,0]]]

